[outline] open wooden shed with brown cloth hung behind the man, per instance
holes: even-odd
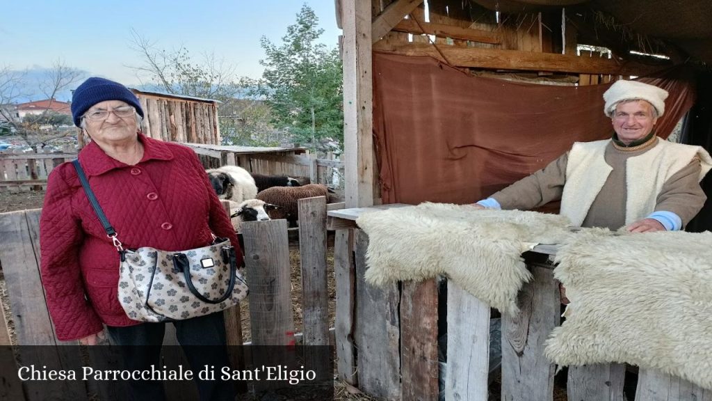
[[[328,214],[330,227],[337,229],[338,375],[377,397],[436,400],[436,283],[365,289],[368,238],[353,224],[355,216],[387,204],[471,203],[542,168],[573,141],[609,138],[601,95],[620,78],[664,82],[671,98],[659,131],[667,136],[684,118],[686,143],[709,149],[712,120],[705,110],[712,104],[712,29],[706,21],[712,7],[703,0],[337,0],[336,14],[343,29],[346,209]],[[479,81],[469,86],[464,77]],[[568,88],[572,96],[501,98],[511,88],[521,95],[523,87],[537,93],[554,86]],[[469,99],[462,96],[470,88],[478,90]],[[498,108],[490,116],[471,118],[469,113],[477,110],[467,102],[473,99],[477,106]],[[419,113],[407,111],[414,108]],[[520,141],[508,124],[525,108],[543,120],[520,124],[520,130],[536,132]],[[578,133],[562,129],[550,136],[536,131],[541,128],[537,125],[558,129],[579,113],[592,116],[592,126],[602,128]],[[470,141],[454,136],[452,127],[470,127]],[[487,141],[498,142],[493,146]],[[532,143],[538,143],[539,153],[531,151]],[[514,161],[508,159],[512,155]],[[461,161],[470,166],[456,164]],[[487,181],[486,171],[506,174]],[[711,183],[709,178],[703,183],[707,193]],[[711,228],[710,215],[708,205],[699,215],[705,219],[699,230]],[[544,261],[547,253],[552,252],[540,252]],[[540,296],[553,299],[557,291],[551,265],[542,270],[546,263],[541,260],[530,263],[535,280],[520,292],[528,312],[503,322],[507,367],[501,373],[502,400],[553,399],[555,366],[541,351],[543,339],[559,324],[559,305],[536,301]],[[447,377],[445,394],[448,400],[487,400],[488,362],[478,352],[487,352],[481,336],[489,335],[483,328],[489,310],[461,291],[447,298],[448,314],[456,313],[458,319],[447,322],[448,333],[457,335],[449,342],[458,346],[449,355],[456,361],[449,363],[459,369],[456,377]],[[570,370],[573,390],[568,399],[623,400],[623,370],[593,368]],[[641,372],[638,386],[636,400],[711,395],[709,389],[659,372]]]

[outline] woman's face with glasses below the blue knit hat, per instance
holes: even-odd
[[[100,145],[120,145],[137,140],[136,113],[125,102],[96,103],[84,113],[84,121],[92,141]]]

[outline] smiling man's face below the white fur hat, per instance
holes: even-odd
[[[625,144],[637,141],[653,131],[658,121],[654,116],[653,106],[646,101],[618,103],[611,118],[613,131],[616,131],[618,139]]]

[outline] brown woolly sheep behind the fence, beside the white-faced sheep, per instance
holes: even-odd
[[[294,227],[299,219],[297,200],[314,196],[328,196],[329,191],[329,188],[321,184],[307,184],[298,187],[276,186],[260,191],[257,198],[279,207],[269,213],[273,220],[285,218],[289,226]]]

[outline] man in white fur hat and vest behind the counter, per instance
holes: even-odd
[[[699,182],[712,158],[699,146],[655,135],[667,96],[657,86],[616,81],[603,94],[611,139],[574,143],[542,170],[474,206],[528,210],[560,199],[560,213],[573,225],[681,230],[706,200]]]

